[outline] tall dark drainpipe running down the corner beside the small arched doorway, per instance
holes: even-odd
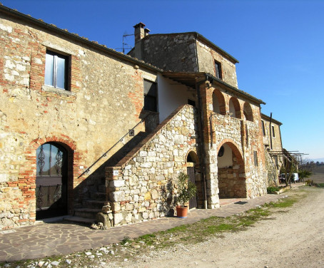
[[[207,191],[206,191],[206,150],[205,150],[205,143],[203,139],[203,110],[202,110],[202,105],[201,105],[201,93],[199,91],[199,86],[201,83],[205,83],[205,81],[201,81],[199,83],[196,83],[196,91],[197,91],[197,98],[198,98],[198,129],[199,129],[199,135],[200,135],[200,150],[199,150],[199,155],[200,155],[200,160],[201,160],[201,174],[203,175],[203,194],[204,194],[204,205],[205,205],[205,210],[207,210]]]

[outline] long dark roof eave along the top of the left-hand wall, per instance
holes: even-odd
[[[67,31],[65,29],[60,29],[60,28],[56,27],[54,24],[46,24],[46,22],[42,21],[41,19],[34,19],[30,15],[22,14],[21,12],[16,11],[14,9],[10,9],[9,7],[0,5],[0,13],[7,14],[8,16],[14,17],[16,19],[28,21],[30,24],[39,26],[43,29],[46,29],[47,31],[52,31],[54,33],[58,33],[59,35],[69,38],[73,41],[79,41],[79,42],[84,43],[88,46],[91,46],[91,47],[96,48],[100,51],[103,51],[104,53],[107,53],[111,56],[116,56],[117,58],[121,58],[125,61],[129,61],[131,63],[136,63],[138,66],[146,67],[152,71],[158,71],[158,72],[162,71],[162,69],[160,69],[156,66],[152,66],[150,63],[146,63],[144,61],[138,60],[137,58],[133,58],[133,57],[126,55],[124,53],[115,51],[112,48],[107,48],[105,45],[101,45],[96,41],[89,41],[88,38],[81,37],[77,33],[70,33],[69,31]]]

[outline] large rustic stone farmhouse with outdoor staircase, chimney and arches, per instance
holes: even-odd
[[[135,28],[124,55],[0,6],[0,229],[163,217],[179,172],[190,207],[265,194],[265,103],[238,89],[238,61],[198,33]]]

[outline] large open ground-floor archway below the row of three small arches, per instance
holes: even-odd
[[[224,143],[218,150],[219,198],[245,198],[246,184],[241,153],[233,143]]]

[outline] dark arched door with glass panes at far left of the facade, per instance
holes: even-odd
[[[36,220],[67,214],[68,154],[57,143],[36,150]]]

